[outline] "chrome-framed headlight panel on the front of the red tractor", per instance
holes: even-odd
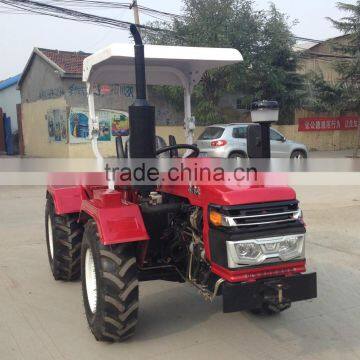
[[[231,269],[305,257],[305,235],[228,241],[226,246]]]

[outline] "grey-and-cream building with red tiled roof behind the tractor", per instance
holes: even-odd
[[[89,54],[35,48],[19,80],[25,153],[41,157],[88,157],[88,103],[82,82],[84,59]],[[136,97],[129,85],[95,89],[95,107],[101,124],[100,149],[115,156],[115,137],[128,129],[127,111]],[[158,125],[183,123],[163,99],[149,89]],[[146,135],[146,134],[144,134]]]

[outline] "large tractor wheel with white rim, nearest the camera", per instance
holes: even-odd
[[[132,337],[139,307],[133,247],[102,245],[97,225],[90,220],[82,243],[81,273],[86,317],[95,338],[122,342]]]

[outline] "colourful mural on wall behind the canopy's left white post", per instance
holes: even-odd
[[[129,116],[122,111],[99,110],[99,141],[111,141],[113,137],[129,134]],[[89,142],[89,113],[85,109],[72,108],[69,115],[69,142],[81,144]]]

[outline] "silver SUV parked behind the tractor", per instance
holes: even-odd
[[[247,128],[249,124],[213,125],[205,129],[196,145],[202,157],[246,158]],[[271,156],[273,158],[306,159],[304,144],[287,140],[275,129],[270,129]]]

